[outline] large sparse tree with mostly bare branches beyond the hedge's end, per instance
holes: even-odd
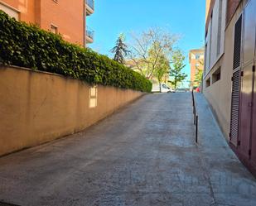
[[[151,28],[139,35],[133,35],[132,39],[130,58],[133,60],[133,69],[147,79],[152,79],[155,74],[162,75],[167,69],[162,69],[159,65],[162,65],[163,57],[170,60],[177,36],[161,28]]]

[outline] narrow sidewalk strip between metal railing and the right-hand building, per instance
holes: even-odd
[[[229,148],[203,94],[196,93],[198,152],[216,205],[256,205],[256,180]]]

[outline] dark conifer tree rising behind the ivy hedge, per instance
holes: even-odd
[[[118,36],[118,40],[116,41],[116,46],[112,50],[114,53],[114,60],[120,64],[124,64],[124,56],[128,55],[129,50],[127,49],[126,44],[124,43],[124,36],[121,34]]]

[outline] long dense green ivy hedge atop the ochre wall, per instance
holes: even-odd
[[[151,92],[141,74],[105,55],[64,41],[37,26],[17,22],[0,11],[0,62],[63,74],[89,84]]]

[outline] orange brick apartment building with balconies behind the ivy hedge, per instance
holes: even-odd
[[[18,21],[60,33],[65,41],[80,46],[94,41],[94,31],[86,25],[94,0],[0,0],[0,9]]]

